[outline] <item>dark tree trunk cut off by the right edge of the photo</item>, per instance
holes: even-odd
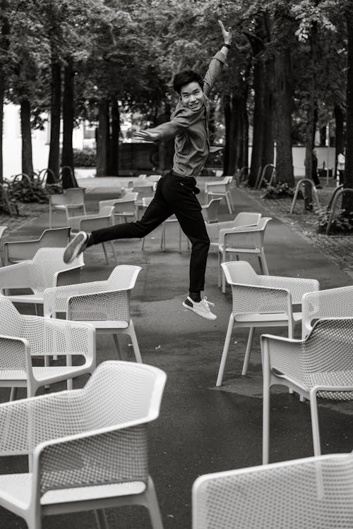
[[[347,23],[347,128],[346,128],[346,152],[345,152],[345,179],[344,188],[353,188],[353,5],[347,2],[345,8]],[[342,208],[347,214],[353,212],[353,196],[346,194],[342,200]]]

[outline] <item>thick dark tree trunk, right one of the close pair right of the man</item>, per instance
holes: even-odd
[[[292,157],[292,72],[289,49],[275,53],[276,130],[276,180],[294,187]]]

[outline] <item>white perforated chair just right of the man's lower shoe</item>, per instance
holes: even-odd
[[[301,321],[301,312],[294,312],[292,305],[301,303],[304,293],[317,291],[319,288],[316,279],[258,275],[246,261],[223,262],[222,269],[227,283],[232,287],[232,312],[216,386],[222,385],[234,328],[249,327],[241,372],[241,375],[246,375],[256,327],[288,327],[288,336],[292,338],[295,325]]]

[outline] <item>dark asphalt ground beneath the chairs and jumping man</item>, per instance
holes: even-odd
[[[88,211],[98,210],[97,202],[116,195],[115,179],[80,180],[87,188]],[[119,178],[119,183],[123,179]],[[124,181],[123,181],[124,183]],[[204,179],[200,181],[203,202]],[[273,217],[265,236],[265,253],[270,274],[311,277],[321,288],[352,284],[352,278],[320,253],[305,236],[291,226],[268,215],[265,207],[246,190],[232,190],[236,212],[258,211]],[[225,204],[220,220],[229,215]],[[33,238],[48,226],[49,213],[18,227],[13,238]],[[64,215],[55,213],[54,224],[64,225]],[[132,318],[143,361],[167,373],[167,384],[160,417],[150,425],[150,475],[155,482],[164,529],[191,528],[191,486],[203,473],[258,465],[261,463],[262,375],[259,336],[256,332],[249,374],[241,377],[247,331],[233,336],[225,370],[224,384],[215,388],[217,370],[232,308],[229,287],[222,294],[217,287],[217,255],[210,253],[205,295],[215,303],[217,320],[203,320],[181,305],[188,292],[189,257],[186,238],[178,251],[178,228],[167,226],[167,250],[160,248],[160,229],[145,240],[116,241],[119,264],[140,265],[136,287],[131,296]],[[10,240],[8,237],[8,240]],[[107,245],[109,265],[100,246],[85,252],[81,281],[106,279],[114,268]],[[258,271],[258,262],[250,262]],[[20,307],[22,312],[34,313]],[[263,332],[285,336],[285,329]],[[299,337],[299,335],[298,335]],[[128,339],[124,343],[126,359],[133,360]],[[97,363],[115,358],[111,336],[97,336]],[[85,377],[74,382],[80,387]],[[56,388],[52,387],[52,390]],[[64,389],[57,384],[57,389]],[[45,391],[45,390],[44,390]],[[42,391],[43,392],[43,391]],[[20,392],[20,396],[24,396]],[[8,390],[0,389],[0,400],[8,399]],[[270,461],[311,456],[311,420],[309,403],[278,389],[271,400]],[[323,454],[352,450],[353,406],[347,403],[321,403],[319,409]],[[25,471],[23,457],[1,458],[0,472]],[[148,513],[142,507],[108,511],[110,526],[119,529],[149,528]],[[52,516],[44,519],[44,529],[95,528],[92,512]],[[20,518],[0,509],[1,528],[25,528]]]

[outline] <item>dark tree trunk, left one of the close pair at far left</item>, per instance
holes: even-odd
[[[52,80],[51,80],[51,103],[50,103],[50,146],[48,168],[52,169],[59,179],[60,174],[60,117],[61,117],[61,64],[52,61]],[[52,183],[50,173],[48,174],[48,183]]]

